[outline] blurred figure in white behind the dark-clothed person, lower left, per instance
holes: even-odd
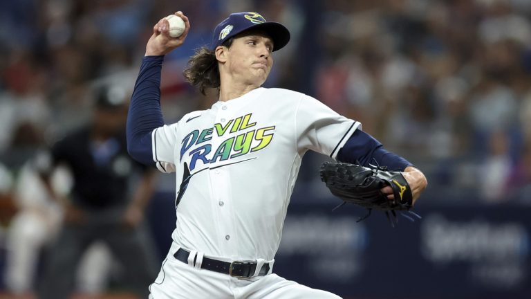
[[[46,156],[37,154],[21,167],[12,192],[12,204],[18,212],[8,226],[5,283],[10,296],[15,298],[28,298],[35,291],[35,278],[41,264],[39,257],[57,237],[62,221],[62,210],[50,198],[35,167],[43,163],[42,158]],[[62,167],[53,172],[50,181],[56,194],[67,194],[71,190],[71,176]],[[3,212],[6,210],[2,208]],[[108,276],[110,257],[108,250],[100,247],[88,249],[78,271],[77,284],[86,293],[101,292]]]

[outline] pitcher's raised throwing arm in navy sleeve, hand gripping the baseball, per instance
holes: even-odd
[[[127,151],[136,161],[147,165],[155,163],[151,132],[164,125],[160,109],[162,61],[165,54],[183,44],[190,29],[188,18],[183,12],[176,12],[175,15],[185,21],[185,31],[180,37],[170,37],[169,24],[165,18],[153,26],[153,35],[147,42],[127,115]]]

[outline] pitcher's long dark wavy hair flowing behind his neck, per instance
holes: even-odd
[[[230,48],[233,38],[227,39],[223,46]],[[199,87],[199,91],[204,96],[207,95],[206,90],[209,88],[218,89],[221,86],[219,77],[218,60],[216,60],[216,53],[206,46],[202,46],[196,50],[196,53],[188,60],[188,66],[183,71],[185,79],[192,85]]]

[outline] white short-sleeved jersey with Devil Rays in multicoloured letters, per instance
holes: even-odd
[[[153,130],[158,169],[176,172],[174,242],[220,259],[273,260],[302,156],[335,158],[359,126],[303,93],[259,88]]]

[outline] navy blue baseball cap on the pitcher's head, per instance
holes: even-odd
[[[249,29],[263,30],[273,40],[273,51],[280,50],[290,41],[288,28],[277,22],[268,22],[257,12],[236,12],[230,14],[214,29],[212,50],[221,46],[230,37]]]

